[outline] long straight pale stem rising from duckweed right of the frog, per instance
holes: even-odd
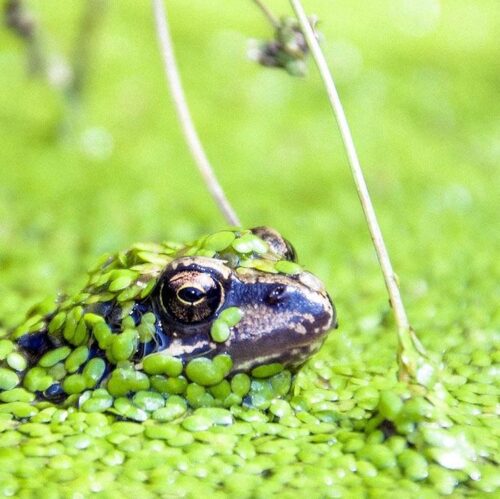
[[[403,299],[401,297],[401,292],[399,290],[397,277],[392,268],[389,253],[382,236],[380,225],[377,221],[377,216],[375,214],[370,194],[368,192],[366,181],[363,175],[363,170],[361,168],[358,154],[356,152],[356,147],[354,146],[354,141],[349,129],[349,124],[347,122],[347,118],[340,101],[339,94],[335,87],[332,74],[328,69],[328,64],[326,62],[325,56],[309,23],[302,3],[300,2],[300,0],[290,0],[290,4],[297,16],[302,32],[306,38],[309,49],[311,50],[312,57],[314,58],[314,61],[318,67],[321,79],[323,80],[326,92],[328,94],[328,100],[332,107],[333,114],[342,136],[342,141],[346,150],[351,173],[354,178],[354,183],[356,184],[356,190],[361,201],[361,206],[365,214],[373,245],[375,247],[377,258],[380,263],[382,274],[384,276],[384,281],[387,292],[389,294],[392,310],[396,319],[396,324],[398,326],[400,350],[413,346],[419,353],[424,353],[424,349],[411,330],[410,323],[408,321],[408,316],[406,314]],[[401,355],[399,357],[401,357]],[[405,364],[404,359],[402,360],[402,362]],[[405,373],[402,373],[400,371],[401,377],[404,377],[404,374]]]

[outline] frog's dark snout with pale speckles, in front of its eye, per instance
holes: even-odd
[[[220,351],[235,371],[279,362],[296,367],[316,353],[336,324],[335,307],[323,283],[309,272],[258,275],[235,281],[229,307],[242,318]]]

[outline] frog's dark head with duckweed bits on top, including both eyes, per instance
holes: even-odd
[[[233,372],[299,366],[336,327],[323,284],[273,229],[224,234],[195,245],[203,249],[194,255],[181,251],[163,270],[149,297],[158,350],[187,362],[227,354]]]

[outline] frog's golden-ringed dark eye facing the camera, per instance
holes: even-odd
[[[174,320],[194,324],[212,317],[223,302],[220,282],[208,272],[182,270],[165,279],[160,304]]]

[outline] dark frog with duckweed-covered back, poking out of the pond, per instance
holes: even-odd
[[[0,340],[0,401],[81,406],[97,394],[105,410],[140,391],[294,372],[336,327],[323,283],[272,228],[138,243]]]

